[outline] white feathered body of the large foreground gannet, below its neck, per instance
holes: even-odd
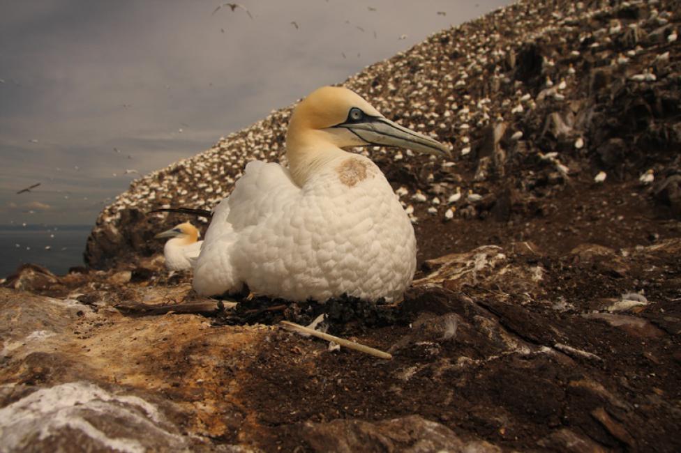
[[[416,268],[414,229],[392,188],[371,160],[350,153],[303,187],[279,164],[249,162],[203,243],[193,286],[204,295],[245,283],[287,300],[395,300]]]

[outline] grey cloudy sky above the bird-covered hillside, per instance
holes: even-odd
[[[0,224],[91,224],[140,174],[510,3],[240,1],[253,19],[216,0],[0,0]]]

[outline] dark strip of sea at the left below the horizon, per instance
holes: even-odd
[[[83,251],[91,229],[91,225],[0,225],[0,278],[12,274],[23,263],[40,264],[57,275],[66,274],[70,267],[83,266]]]

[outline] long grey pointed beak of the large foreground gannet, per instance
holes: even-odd
[[[363,115],[361,120],[338,124],[334,128],[345,128],[371,145],[398,146],[421,153],[451,158],[449,148],[439,141],[426,137],[413,130],[403,128],[398,123],[383,116]]]

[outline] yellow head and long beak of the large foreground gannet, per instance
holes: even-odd
[[[287,148],[320,146],[338,148],[384,145],[449,157],[449,148],[390,121],[356,93],[324,86],[294,109],[286,136]]]

